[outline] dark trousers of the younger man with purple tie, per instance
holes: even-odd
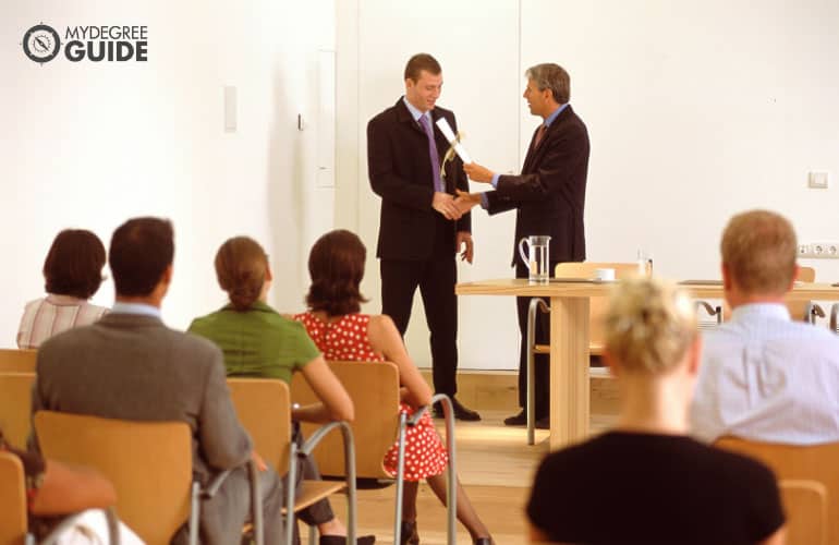
[[[434,389],[454,396],[458,391],[458,279],[453,253],[423,262],[381,259],[381,314],[393,319],[404,337],[411,318],[414,292],[425,305],[425,320],[431,334]]]

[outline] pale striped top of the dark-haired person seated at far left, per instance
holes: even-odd
[[[92,305],[84,299],[54,295],[26,303],[17,330],[17,348],[38,348],[53,335],[78,326],[87,326],[101,318],[108,308]]]

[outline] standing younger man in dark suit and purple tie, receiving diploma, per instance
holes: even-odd
[[[434,388],[448,395],[460,420],[481,420],[454,398],[458,391],[458,299],[454,255],[472,263],[472,223],[454,206],[454,191],[469,191],[462,162],[445,161],[449,143],[436,122],[457,131],[454,114],[437,107],[440,64],[413,56],[405,66],[405,95],[367,124],[370,186],[381,197],[379,240],[381,313],[404,336],[417,287],[431,334]],[[441,170],[442,167],[442,170]],[[441,415],[435,407],[435,415]]]

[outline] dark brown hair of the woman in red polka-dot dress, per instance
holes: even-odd
[[[337,229],[320,237],[308,254],[312,286],[306,304],[312,311],[342,316],[361,311],[367,300],[358,291],[367,250],[355,233]]]

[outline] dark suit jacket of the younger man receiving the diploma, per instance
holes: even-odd
[[[431,110],[434,134],[440,164],[449,143],[437,129],[440,118],[457,132],[454,113],[440,107]],[[402,101],[382,111],[367,123],[367,166],[370,186],[381,197],[379,239],[376,257],[382,259],[428,259],[434,251],[436,216],[431,208],[434,177],[428,157],[428,137]],[[446,165],[446,191],[469,192],[469,180],[459,157]],[[469,214],[451,227],[451,254],[457,231],[471,231]]]

